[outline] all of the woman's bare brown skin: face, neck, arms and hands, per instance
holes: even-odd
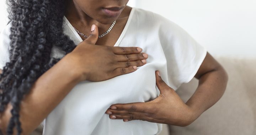
[[[25,96],[20,110],[22,135],[27,135],[36,129],[79,82],[108,80],[135,71],[136,67],[133,69],[132,66],[146,64],[143,60],[146,60],[148,55],[141,53],[142,50],[138,51],[136,47],[113,47],[130,13],[130,7],[126,6],[128,0],[70,0],[70,2],[69,12],[65,16],[74,27],[90,36],[40,76],[30,93]],[[102,7],[113,6],[125,8],[115,17],[102,13]],[[117,23],[112,31],[98,39],[98,33],[105,32],[115,20]],[[144,57],[143,54],[146,56]],[[0,74],[1,72],[0,69]],[[114,115],[116,119],[189,125],[222,97],[228,80],[225,70],[210,54],[206,55],[195,77],[199,79],[199,86],[186,103],[182,102],[177,93],[167,86],[156,72],[156,85],[161,91],[158,98],[146,103],[114,104],[111,106],[112,109],[106,112],[112,112],[110,118]],[[5,112],[0,113],[0,129],[4,133],[11,117],[11,108],[11,104],[8,104]]]

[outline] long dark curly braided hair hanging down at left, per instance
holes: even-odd
[[[51,57],[53,46],[67,54],[76,45],[63,33],[65,0],[7,0],[6,3],[11,23],[10,61],[0,75],[0,112],[11,103],[12,117],[6,134],[12,135],[16,128],[20,135],[21,100],[33,83],[60,60]]]

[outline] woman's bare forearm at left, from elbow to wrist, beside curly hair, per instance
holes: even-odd
[[[60,60],[33,84],[21,102],[20,121],[23,135],[31,133],[79,82],[67,60]],[[0,114],[0,127],[6,132],[12,106]],[[15,131],[15,130],[14,130]],[[16,131],[15,131],[16,132]]]

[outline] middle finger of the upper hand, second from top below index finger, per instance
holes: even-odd
[[[135,60],[142,60],[147,59],[148,54],[146,53],[137,53],[137,54],[125,54],[125,55],[117,55],[117,61],[118,62],[124,62],[124,61],[135,61]]]

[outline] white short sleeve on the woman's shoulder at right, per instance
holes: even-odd
[[[167,61],[168,79],[178,88],[193,79],[207,50],[183,28],[165,18],[159,38]]]

